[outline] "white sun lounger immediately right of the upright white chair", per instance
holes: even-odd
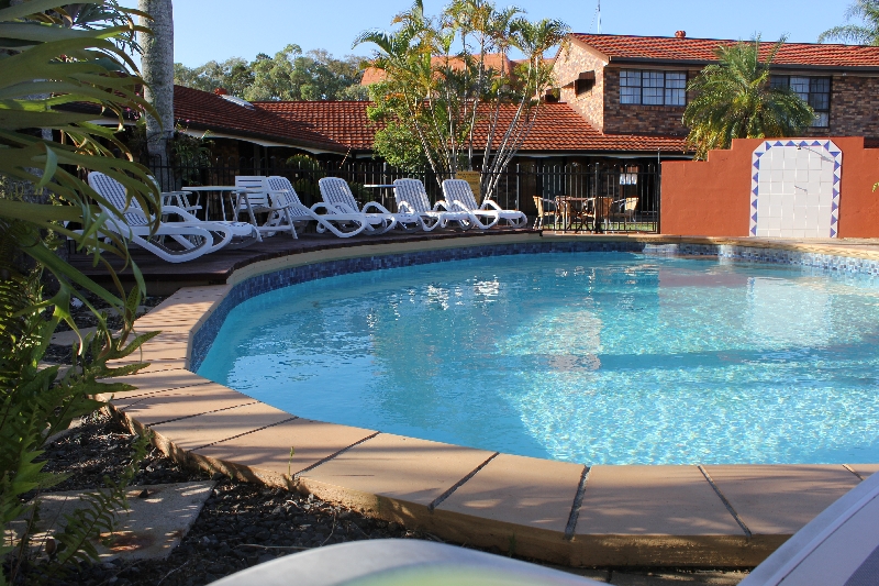
[[[282,226],[287,222],[287,225],[293,226],[293,237],[299,237],[296,224],[313,221],[318,223],[319,233],[330,231],[341,239],[356,236],[366,230],[367,222],[359,212],[342,213],[330,209],[323,202],[315,203],[311,208],[305,207],[287,177],[272,175],[263,177],[263,180],[274,210],[264,224],[266,228]],[[324,212],[320,213],[321,210]]]

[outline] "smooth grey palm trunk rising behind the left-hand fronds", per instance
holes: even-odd
[[[174,135],[174,5],[171,0],[138,0],[137,8],[153,16],[141,19],[152,34],[141,33],[141,73],[144,98],[153,104],[158,120],[146,117],[146,148],[163,191],[174,189],[169,168],[168,140]]]

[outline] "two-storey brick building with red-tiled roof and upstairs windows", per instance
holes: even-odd
[[[571,34],[554,73],[561,101],[608,135],[686,136],[687,84],[736,41]],[[774,43],[763,43],[764,56]],[[810,136],[879,137],[879,47],[786,43],[771,68],[815,110]]]

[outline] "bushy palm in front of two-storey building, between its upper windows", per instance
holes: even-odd
[[[688,90],[696,93],[683,112],[687,142],[696,158],[713,148],[728,148],[733,139],[792,136],[815,118],[812,108],[789,88],[772,87],[769,68],[785,38],[760,62],[759,36],[750,43],[719,46],[720,63],[709,65]]]

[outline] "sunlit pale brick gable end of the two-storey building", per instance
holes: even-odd
[[[594,71],[592,89],[579,96],[575,93],[574,81],[581,73]],[[553,67],[556,84],[561,88],[560,100],[567,102],[575,112],[583,117],[599,132],[604,129],[604,60],[578,42],[563,52]]]

